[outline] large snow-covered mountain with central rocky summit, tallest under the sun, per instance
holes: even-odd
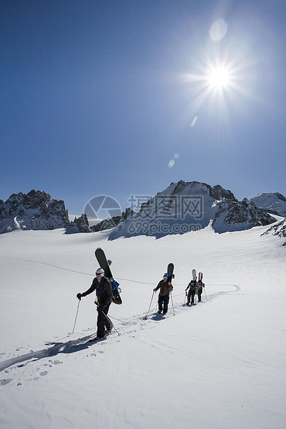
[[[134,235],[184,234],[211,226],[215,232],[247,230],[275,222],[265,210],[246,201],[220,185],[211,187],[196,181],[171,183],[141,210],[111,232],[110,239]]]

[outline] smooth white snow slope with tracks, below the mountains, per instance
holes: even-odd
[[[69,428],[285,428],[286,248],[269,226],[161,239],[108,241],[109,232],[0,235],[0,426]],[[97,268],[113,260],[123,304],[100,343]],[[152,290],[175,264],[166,318]],[[192,268],[204,272],[201,304],[183,307]],[[71,334],[78,309],[75,333]]]

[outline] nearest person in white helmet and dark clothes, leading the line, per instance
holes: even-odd
[[[93,282],[87,291],[83,293],[78,293],[77,298],[81,300],[83,296],[89,295],[93,291],[96,291],[96,301],[94,303],[98,306],[98,320],[97,320],[97,336],[96,340],[104,338],[105,328],[107,333],[111,331],[113,324],[107,318],[107,313],[112,302],[112,286],[107,277],[105,277],[105,271],[102,268],[96,270],[96,277],[93,279]]]

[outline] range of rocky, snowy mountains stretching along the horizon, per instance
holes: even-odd
[[[31,190],[28,194],[12,194],[5,202],[0,200],[0,233],[17,229],[66,228],[66,233],[110,229],[109,239],[134,235],[159,238],[206,227],[219,233],[247,230],[277,222],[271,215],[286,217],[286,198],[278,192],[238,201],[220,185],[179,181],[143,203],[138,212],[128,208],[121,216],[89,226],[87,215],[69,221],[64,201]],[[286,219],[280,223],[269,232],[286,237]]]

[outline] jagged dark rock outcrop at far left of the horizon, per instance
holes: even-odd
[[[69,224],[64,201],[52,199],[43,191],[12,194],[0,200],[0,233],[12,230],[52,230]]]

